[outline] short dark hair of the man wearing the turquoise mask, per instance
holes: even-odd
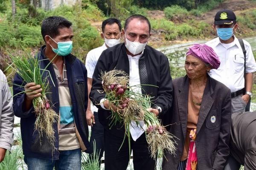
[[[70,28],[72,26],[72,23],[65,19],[64,17],[47,17],[43,20],[41,25],[41,34],[43,36],[43,39],[46,35],[49,35],[52,38],[55,38],[59,35],[59,28]],[[45,42],[45,39],[44,39]]]

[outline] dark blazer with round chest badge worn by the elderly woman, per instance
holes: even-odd
[[[170,133],[177,137],[175,156],[165,153],[163,170],[176,170],[183,153],[188,122],[189,78],[173,80]],[[212,119],[215,119],[212,121]],[[198,170],[223,170],[229,155],[231,125],[230,89],[208,76],[196,129]]]

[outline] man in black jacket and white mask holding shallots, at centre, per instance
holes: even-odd
[[[167,113],[172,105],[172,78],[169,61],[163,53],[147,45],[151,36],[148,19],[142,15],[132,15],[125,21],[122,33],[125,42],[108,48],[99,57],[93,73],[90,93],[91,101],[99,108],[99,122],[105,127],[105,170],[126,170],[130,155],[127,137],[122,144],[125,136],[123,124],[116,123],[111,128],[109,126],[111,111],[109,101],[105,99],[105,93],[101,92],[103,90],[100,79],[102,72],[113,69],[123,70],[129,74],[129,85],[153,85],[139,91],[153,97],[154,104],[151,105],[149,111],[156,116]],[[143,69],[145,72],[142,74]],[[114,105],[111,105],[111,109],[117,110]],[[132,136],[133,139],[130,139],[134,170],[154,170],[155,160],[150,156],[145,133],[140,133],[138,136],[138,138]]]

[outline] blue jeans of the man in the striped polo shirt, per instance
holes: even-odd
[[[81,149],[60,150],[58,160],[38,159],[24,156],[28,170],[81,170]]]

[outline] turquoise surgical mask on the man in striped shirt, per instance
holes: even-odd
[[[50,37],[50,38],[52,39],[52,37]],[[73,47],[72,46],[73,41],[64,41],[64,42],[56,42],[56,41],[54,41],[54,42],[56,44],[58,44],[58,48],[57,49],[53,48],[52,45],[51,45],[52,51],[55,52],[55,54],[57,54],[59,56],[66,56],[66,55],[71,53],[72,47]]]

